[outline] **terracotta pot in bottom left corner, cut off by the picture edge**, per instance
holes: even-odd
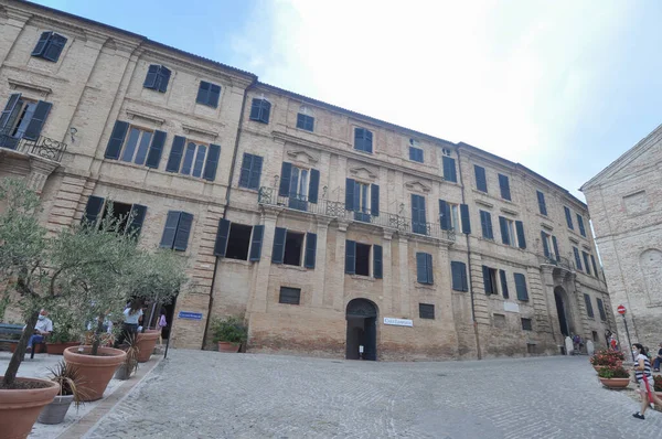
[[[60,392],[60,385],[47,379],[17,378],[17,382],[40,382],[47,384],[47,387],[25,390],[0,389],[0,435],[3,439],[26,438],[41,410]]]

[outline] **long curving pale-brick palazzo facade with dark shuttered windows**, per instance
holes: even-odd
[[[248,352],[558,354],[615,329],[587,207],[452,143],[29,2],[0,1],[0,176],[51,231],[134,213],[189,258],[178,347],[244,314]]]

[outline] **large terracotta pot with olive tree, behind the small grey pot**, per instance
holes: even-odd
[[[79,349],[83,352],[78,352]],[[64,361],[81,374],[87,398],[97,400],[104,396],[108,383],[117,367],[125,361],[127,353],[113,347],[99,347],[98,355],[90,355],[92,346],[73,346],[64,350]]]

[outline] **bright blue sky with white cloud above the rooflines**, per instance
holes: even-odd
[[[580,200],[662,122],[659,1],[36,2],[470,143]]]

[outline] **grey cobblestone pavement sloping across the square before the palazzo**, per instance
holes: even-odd
[[[632,418],[626,392],[602,388],[586,356],[375,363],[177,350],[87,437],[662,438],[662,414]]]

